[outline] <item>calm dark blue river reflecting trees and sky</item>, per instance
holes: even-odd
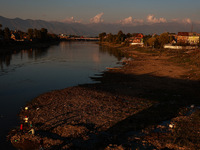
[[[94,83],[91,76],[117,66],[122,57],[94,42],[61,42],[0,56],[0,147],[8,144],[5,136],[18,126],[17,113],[27,102],[52,90]]]

